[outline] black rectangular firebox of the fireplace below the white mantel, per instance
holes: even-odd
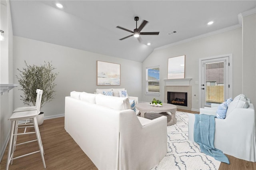
[[[188,106],[188,93],[168,91],[167,102],[173,105]]]

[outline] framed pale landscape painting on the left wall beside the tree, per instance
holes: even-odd
[[[97,61],[97,85],[120,85],[120,64]]]

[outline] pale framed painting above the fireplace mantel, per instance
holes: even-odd
[[[184,79],[185,77],[185,55],[168,58],[167,79]]]

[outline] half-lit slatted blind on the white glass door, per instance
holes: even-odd
[[[205,64],[206,103],[224,102],[224,61]]]

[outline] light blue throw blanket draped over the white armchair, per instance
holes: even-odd
[[[218,161],[230,164],[226,155],[214,148],[215,117],[205,114],[195,115],[194,141],[199,144],[201,152]]]

